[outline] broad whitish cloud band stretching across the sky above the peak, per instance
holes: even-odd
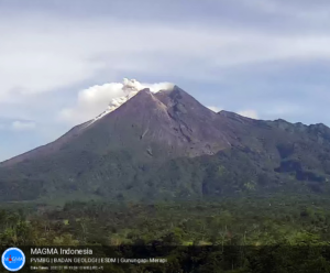
[[[330,58],[327,32],[311,35],[300,30],[292,35],[184,22],[173,28],[113,18],[50,15],[45,21],[40,14],[2,17],[0,25],[0,36],[7,37],[0,44],[0,101],[75,85],[100,70],[112,76],[157,73],[195,80],[232,66]]]

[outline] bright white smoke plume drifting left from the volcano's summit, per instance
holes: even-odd
[[[119,108],[142,89],[148,88],[152,92],[157,92],[173,87],[174,84],[170,83],[146,84],[127,78],[123,79],[123,83],[91,86],[79,91],[76,107],[63,109],[59,119],[70,124],[81,123],[95,117],[97,120]],[[105,111],[105,109],[107,110]],[[100,112],[102,113],[100,114]]]

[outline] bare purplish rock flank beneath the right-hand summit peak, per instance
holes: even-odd
[[[167,107],[185,155],[215,154],[231,145],[219,116],[180,88],[157,92],[155,97]]]

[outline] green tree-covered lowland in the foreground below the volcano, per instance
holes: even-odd
[[[98,254],[167,258],[164,264],[110,264],[107,272],[330,272],[329,208],[327,198],[284,195],[57,208],[11,204],[0,212],[0,242],[112,245],[98,247]]]

